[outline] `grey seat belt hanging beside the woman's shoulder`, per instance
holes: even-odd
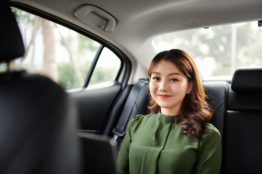
[[[128,95],[127,101],[125,103],[124,109],[121,113],[120,119],[118,120],[116,127],[112,130],[112,132],[114,133],[114,137],[112,140],[114,142],[117,141],[118,137],[123,137],[125,135],[125,129],[128,120],[131,117],[131,113],[135,106],[135,102],[139,96],[141,89],[146,84],[149,84],[149,79],[139,79],[139,82],[134,87],[132,87]]]

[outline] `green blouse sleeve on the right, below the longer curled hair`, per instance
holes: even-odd
[[[212,124],[207,124],[210,133],[205,133],[199,144],[192,174],[219,174],[222,158],[221,135]]]

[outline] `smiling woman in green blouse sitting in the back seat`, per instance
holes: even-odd
[[[128,124],[117,164],[123,174],[219,174],[221,135],[208,121],[196,65],[184,51],[157,54],[148,75],[149,115]]]

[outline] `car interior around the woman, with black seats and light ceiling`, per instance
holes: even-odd
[[[128,121],[150,112],[147,68],[159,52],[152,41],[156,35],[256,21],[262,37],[261,0],[0,3],[0,68],[6,66],[5,72],[0,69],[1,174],[99,174],[96,168],[88,169],[90,149],[76,131],[109,137],[119,148]],[[12,68],[15,59],[26,53],[28,40],[25,42],[24,27],[17,24],[11,8],[48,19],[100,44],[86,67],[83,85],[63,87],[44,74]],[[105,49],[120,59],[119,68],[112,81],[93,85],[92,77]],[[259,65],[236,67],[230,78],[207,80],[199,69],[207,102],[214,110],[210,123],[222,136],[220,174],[262,173],[261,44],[258,50]]]

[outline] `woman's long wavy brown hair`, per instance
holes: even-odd
[[[188,82],[192,82],[192,90],[185,95],[180,108],[180,114],[175,123],[180,123],[183,134],[195,137],[199,140],[203,134],[209,133],[205,127],[206,123],[212,118],[212,109],[206,102],[205,89],[200,82],[200,77],[196,65],[191,56],[185,51],[172,49],[158,53],[152,60],[148,75],[151,78],[152,71],[160,60],[165,60],[177,66],[179,71],[183,73]],[[160,106],[151,97],[150,106],[151,113],[157,113]]]

